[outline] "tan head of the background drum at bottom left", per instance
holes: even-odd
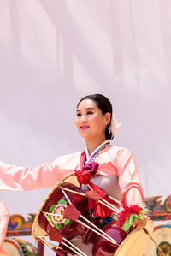
[[[15,239],[5,238],[3,242],[3,250],[10,256],[24,256],[20,244]]]

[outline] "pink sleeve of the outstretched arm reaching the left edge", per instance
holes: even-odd
[[[10,191],[50,188],[56,185],[64,176],[73,172],[72,156],[62,156],[56,161],[43,164],[36,168],[24,168],[0,162],[0,189]],[[63,166],[67,166],[63,168]]]

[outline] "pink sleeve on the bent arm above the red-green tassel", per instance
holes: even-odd
[[[126,148],[121,148],[117,154],[116,169],[119,176],[121,199],[129,205],[144,204],[144,192],[137,165],[132,153]]]

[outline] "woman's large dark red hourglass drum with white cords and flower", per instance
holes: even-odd
[[[149,236],[143,230],[127,234],[116,220],[104,225],[99,217],[91,218],[87,194],[80,189],[74,174],[63,178],[39,209],[32,226],[32,237],[42,241],[57,255],[70,253],[85,256],[82,242],[87,246],[91,242],[93,256],[142,256],[150,241]],[[95,198],[110,210],[115,209],[115,206],[106,204],[103,199]],[[153,223],[149,220],[145,228],[151,234]],[[75,238],[79,238],[80,247],[71,242]]]

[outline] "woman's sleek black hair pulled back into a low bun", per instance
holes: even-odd
[[[84,98],[80,99],[80,102],[77,104],[77,108],[79,106],[79,104],[81,103],[82,100],[84,99],[91,99],[93,100],[96,104],[97,104],[97,108],[99,108],[100,110],[102,110],[103,115],[105,115],[106,113],[110,113],[111,117],[110,117],[110,122],[106,127],[105,130],[105,137],[106,140],[112,140],[114,138],[114,134],[112,134],[109,131],[109,126],[111,124],[111,120],[112,120],[112,104],[110,103],[109,99],[106,98],[105,96],[103,96],[102,94],[91,94],[91,95],[87,95]]]

